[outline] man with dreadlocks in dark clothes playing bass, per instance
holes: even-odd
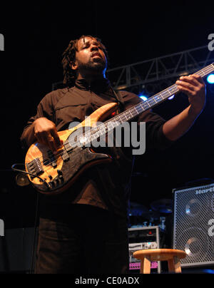
[[[141,102],[133,93],[113,91],[106,78],[108,53],[96,37],[81,36],[71,41],[62,64],[65,88],[41,100],[21,135],[26,147],[39,143],[53,155],[64,145],[60,131],[68,130],[71,123],[83,122],[109,103],[117,103],[121,113]],[[189,98],[185,110],[168,121],[151,110],[135,118],[138,124],[146,123],[148,149],[168,148],[203,111],[206,94],[201,76],[183,76],[176,85]],[[111,155],[111,161],[92,165],[61,193],[39,194],[37,274],[128,272],[130,152],[124,147],[107,147],[105,153]],[[49,178],[51,181],[51,175]]]

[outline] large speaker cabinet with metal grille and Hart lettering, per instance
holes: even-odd
[[[214,265],[214,183],[173,190],[173,248],[182,267]]]

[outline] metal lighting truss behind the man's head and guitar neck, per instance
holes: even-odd
[[[151,60],[133,63],[131,65],[112,68],[107,71],[108,79],[113,88],[126,89],[141,93],[143,88],[149,91],[149,84],[165,81],[170,83],[174,78],[188,75],[200,70],[214,61],[214,56],[208,46],[201,46],[190,50],[173,53]],[[61,82],[52,85],[55,90]],[[151,93],[153,90],[151,89]]]

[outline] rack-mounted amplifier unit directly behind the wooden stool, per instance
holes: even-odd
[[[160,227],[139,227],[128,229],[129,270],[139,272],[141,260],[133,257],[133,252],[160,248]],[[161,273],[161,262],[152,262],[153,272]]]

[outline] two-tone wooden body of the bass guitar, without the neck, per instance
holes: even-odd
[[[58,132],[63,140],[63,148],[52,153],[39,143],[31,145],[26,153],[26,171],[36,190],[46,195],[63,192],[89,167],[98,163],[111,162],[111,156],[95,153],[90,147],[72,147],[72,139],[78,130],[95,128],[98,121],[108,118],[118,108],[117,103],[109,103],[92,113],[86,120],[72,128]],[[37,177],[34,177],[36,175]]]

